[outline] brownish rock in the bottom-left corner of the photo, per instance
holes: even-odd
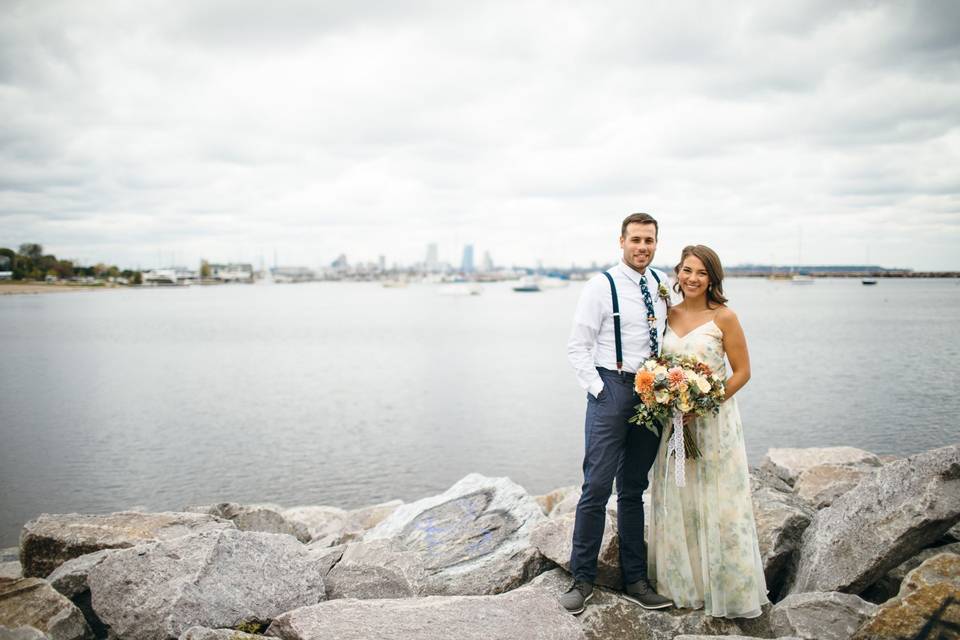
[[[93,638],[80,609],[39,578],[0,578],[0,625],[11,633],[18,627],[33,627],[51,640]]]

